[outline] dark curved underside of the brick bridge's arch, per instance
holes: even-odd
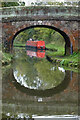
[[[21,27],[21,29],[19,31],[16,31],[15,35],[13,36],[12,38],[12,43],[11,43],[11,48],[13,48],[13,42],[14,42],[14,39],[15,37],[20,33],[20,32],[23,32],[24,30],[27,30],[27,29],[30,29],[30,28],[35,28],[35,27],[44,27],[44,28],[50,28],[50,29],[53,29],[55,30],[56,32],[60,33],[63,38],[64,38],[64,41],[65,41],[65,55],[67,54],[70,54],[71,53],[71,41],[70,41],[70,38],[69,36],[62,30],[60,30],[59,28],[57,27],[54,27],[54,26],[51,26],[51,25],[31,25],[31,26],[26,26],[24,28]],[[72,50],[73,51],[73,50]]]

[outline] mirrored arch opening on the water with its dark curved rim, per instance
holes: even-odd
[[[46,58],[29,57],[25,53],[15,56],[13,79],[17,89],[29,95],[51,96],[67,87],[68,71],[54,66]]]

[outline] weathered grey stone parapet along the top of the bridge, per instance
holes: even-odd
[[[72,6],[28,6],[28,7],[4,7],[0,8],[3,22],[13,18],[23,17],[23,20],[78,20],[78,7]],[[20,19],[21,20],[21,19]]]

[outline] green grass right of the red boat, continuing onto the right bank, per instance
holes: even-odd
[[[80,69],[80,52],[74,52],[72,55],[64,56],[64,46],[48,44],[46,47],[57,49],[57,52],[47,51],[46,53],[56,63],[68,67],[78,67]]]

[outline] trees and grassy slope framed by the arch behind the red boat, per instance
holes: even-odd
[[[45,45],[47,48],[58,50],[58,52],[55,52],[55,54],[57,53],[64,55],[64,38],[55,30],[44,27],[27,29],[18,34],[18,36],[14,40],[14,46],[19,46],[21,44],[26,45],[26,41],[30,38],[33,38],[34,40],[43,40],[45,41]]]

